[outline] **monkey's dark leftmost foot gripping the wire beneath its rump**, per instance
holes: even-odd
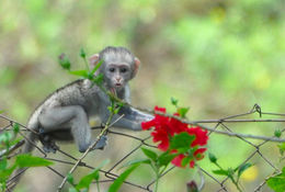
[[[39,128],[38,139],[42,143],[43,149],[45,153],[55,154],[56,150],[59,149],[59,147],[56,145],[55,140],[53,140],[48,134],[45,134],[43,128]]]

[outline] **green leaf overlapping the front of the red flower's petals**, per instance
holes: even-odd
[[[183,149],[187,151],[191,147],[192,142],[195,139],[195,135],[189,135],[186,132],[182,132],[178,135],[174,135],[170,140],[171,149]]]

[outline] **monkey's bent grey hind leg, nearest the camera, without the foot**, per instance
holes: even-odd
[[[58,106],[45,110],[38,116],[44,133],[60,129],[71,129],[71,134],[83,153],[91,144],[91,129],[84,110],[79,105]]]

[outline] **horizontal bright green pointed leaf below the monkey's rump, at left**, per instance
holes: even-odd
[[[16,156],[15,162],[20,168],[52,166],[54,163],[44,158],[31,156],[30,154],[21,154]]]

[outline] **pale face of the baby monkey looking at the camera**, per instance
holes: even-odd
[[[130,66],[128,64],[109,64],[105,68],[105,80],[110,88],[122,90],[132,77]]]

